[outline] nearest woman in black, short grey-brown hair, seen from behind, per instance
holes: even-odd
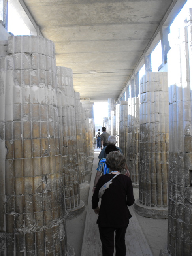
[[[125,168],[125,157],[118,151],[107,155],[106,164],[110,174],[100,177],[92,196],[92,209],[99,215],[100,239],[102,241],[103,256],[113,256],[114,231],[116,256],[126,255],[125,233],[129,224],[128,207],[134,203],[133,187],[130,177],[117,175]],[[117,175],[115,177],[115,175]],[[109,188],[102,195],[101,206],[98,207],[99,190],[108,181],[115,177]]]

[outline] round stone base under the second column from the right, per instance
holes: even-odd
[[[168,218],[168,207],[155,208],[142,205],[137,199],[134,203],[136,213],[147,218]]]

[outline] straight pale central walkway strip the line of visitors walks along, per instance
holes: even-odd
[[[87,205],[87,216],[85,220],[85,230],[81,256],[102,256],[102,244],[100,241],[98,225],[96,220],[98,216],[92,210],[92,188],[98,165],[98,154],[100,149],[95,149],[92,176],[90,182],[89,198]],[[126,232],[126,256],[153,256],[151,249],[145,239],[143,231],[134,213],[133,206],[129,207],[132,218]]]

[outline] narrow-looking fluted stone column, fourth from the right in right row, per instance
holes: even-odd
[[[127,156],[127,139],[128,139],[128,127],[127,127],[127,110],[128,102],[120,102],[120,149],[124,156]]]

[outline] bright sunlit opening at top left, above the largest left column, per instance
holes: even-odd
[[[16,9],[13,8],[10,0],[8,0],[8,32],[13,33],[14,36],[30,35],[30,30]]]

